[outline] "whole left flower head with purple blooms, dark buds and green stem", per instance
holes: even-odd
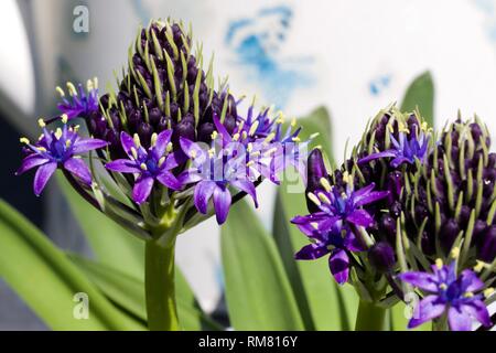
[[[21,139],[26,157],[19,173],[37,168],[36,194],[61,169],[85,200],[145,242],[151,330],[181,329],[177,235],[214,214],[223,224],[230,205],[247,194],[257,205],[263,179],[278,183],[287,165],[303,170],[305,162],[300,129],[283,129],[282,114],[256,114],[252,105],[239,115],[240,100],[225,81],[214,87],[212,61],[205,73],[202,51],[193,54],[192,45],[182,23],[152,21],[129,50],[117,93],[99,96],[96,79],[86,90],[57,88],[61,117],[40,121],[37,142]],[[61,122],[55,132],[46,126]]]

